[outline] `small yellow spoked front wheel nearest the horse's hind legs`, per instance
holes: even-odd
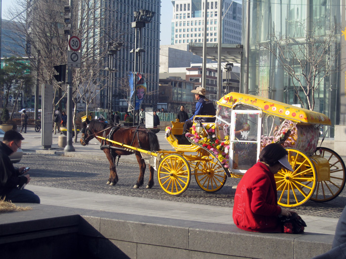
[[[191,170],[186,159],[179,154],[165,156],[157,170],[161,188],[168,194],[179,195],[190,184]]]

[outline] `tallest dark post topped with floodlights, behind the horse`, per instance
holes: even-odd
[[[134,65],[133,65],[133,72],[140,72],[141,71],[141,57],[140,53],[145,52],[143,48],[141,48],[141,29],[145,27],[146,23],[150,23],[151,19],[153,18],[155,12],[149,11],[149,10],[144,10],[140,9],[139,11],[133,12],[133,22],[131,23],[131,27],[135,28],[135,34],[134,34],[134,48],[130,51],[130,53],[134,53]],[[137,47],[138,45],[138,47]],[[138,55],[138,60],[137,60],[137,55]],[[133,126],[134,126],[134,121],[136,118],[136,112],[134,110],[135,108],[135,90],[136,90],[136,74],[134,74],[134,79],[133,79]],[[139,122],[139,117],[137,118]]]

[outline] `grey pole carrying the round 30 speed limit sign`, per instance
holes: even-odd
[[[70,0],[69,5],[72,9],[72,0]],[[72,12],[72,11],[71,11]],[[72,14],[71,14],[71,31],[73,28],[72,23]],[[70,48],[70,39],[71,35],[69,35],[69,51],[72,49]],[[72,146],[72,68],[69,66],[67,70],[67,140],[66,140],[66,147],[64,148],[65,152],[74,152],[76,151],[75,148]]]

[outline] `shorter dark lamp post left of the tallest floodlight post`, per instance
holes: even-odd
[[[113,72],[114,68],[114,55],[121,49],[123,43],[121,42],[110,42],[107,41],[107,54],[108,54],[108,68],[105,68],[108,71],[108,123],[113,124],[112,113],[113,113]]]

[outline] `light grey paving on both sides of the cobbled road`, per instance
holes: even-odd
[[[96,140],[91,140],[87,147],[80,143],[74,143],[75,152],[64,153],[59,148],[58,134],[53,135],[53,145],[50,150],[43,150],[41,146],[41,132],[35,132],[34,128],[28,128],[28,133],[23,134],[25,140],[22,142],[24,153],[40,152],[65,154],[69,156],[87,157],[92,155],[95,159],[106,159],[100,150]],[[173,150],[164,138],[164,131],[157,134],[162,149]],[[25,154],[24,154],[25,155]],[[133,159],[129,157],[129,162]],[[35,191],[41,198],[42,204],[99,210],[107,212],[118,212],[132,215],[155,216],[167,219],[193,220],[200,222],[216,222],[233,224],[232,208],[217,207],[210,205],[198,205],[174,201],[154,200],[148,198],[128,197],[121,195],[91,193],[69,189],[28,185],[28,189]],[[338,219],[326,217],[313,217],[301,215],[307,223],[305,232],[324,233],[334,235]],[[331,236],[331,239],[333,237]]]

